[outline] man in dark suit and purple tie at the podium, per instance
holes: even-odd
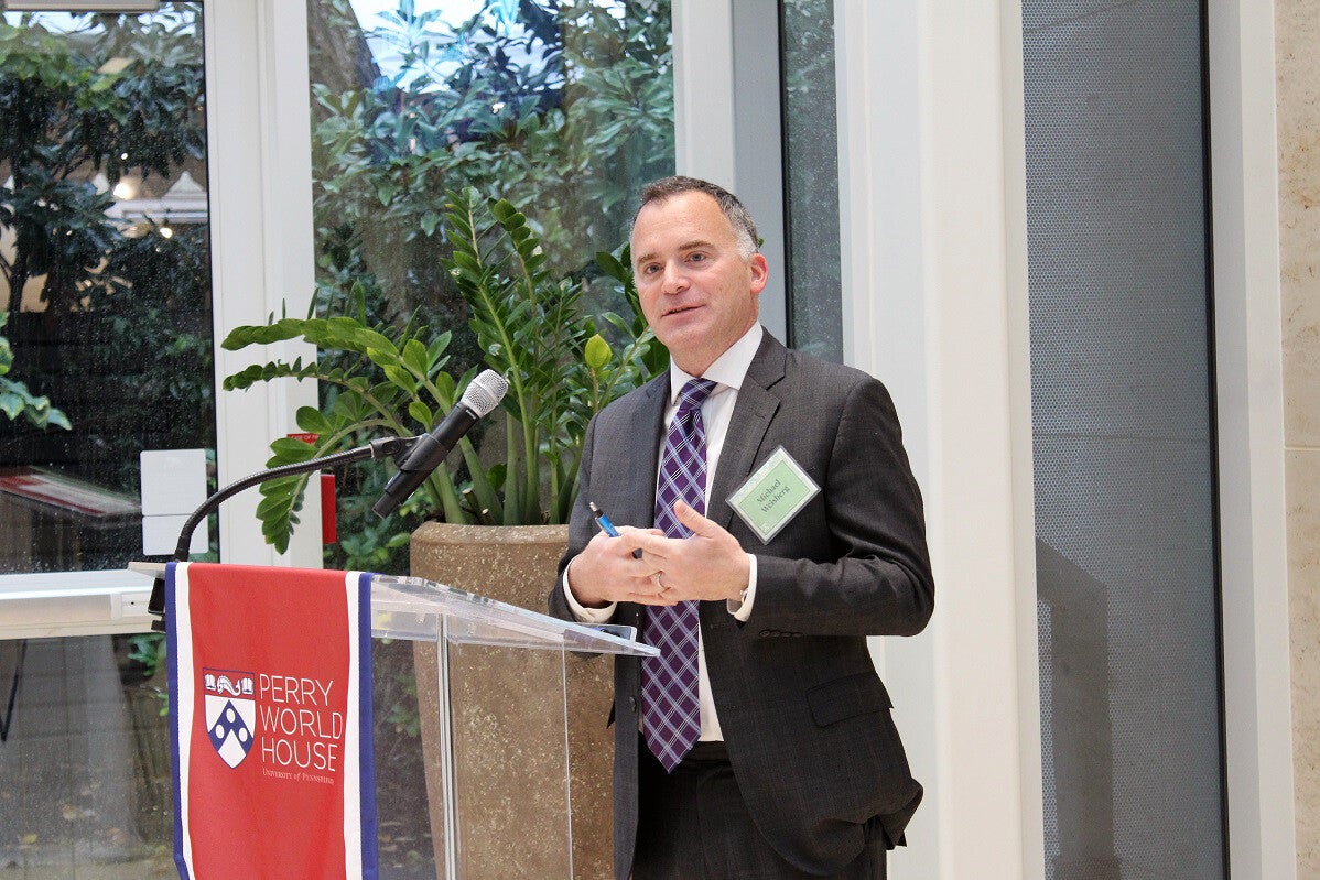
[[[671,371],[589,426],[550,595],[663,648],[615,665],[619,880],[883,877],[921,798],[866,646],[933,607],[898,417],[875,379],[762,330],[756,240],[715,185],[643,193],[632,267]],[[767,526],[730,496],[772,456],[809,500]]]

